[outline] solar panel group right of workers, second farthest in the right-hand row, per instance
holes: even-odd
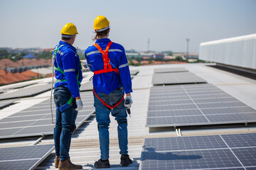
[[[201,79],[191,72],[174,72],[174,73],[160,73],[153,74],[152,84],[194,84],[206,83],[206,80]]]

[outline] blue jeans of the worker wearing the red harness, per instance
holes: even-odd
[[[102,101],[105,101],[109,106],[114,106],[118,103],[124,94],[123,89],[112,91],[110,94],[97,93]],[[113,110],[105,106],[97,96],[94,95],[95,99],[95,110],[96,110],[96,120],[98,123],[99,138],[100,138],[100,158],[109,159],[110,157],[110,112],[114,116],[114,120],[117,120],[117,132],[118,132],[118,142],[119,142],[119,154],[127,154],[128,151],[128,139],[127,139],[127,111],[124,107],[124,99],[117,107]]]

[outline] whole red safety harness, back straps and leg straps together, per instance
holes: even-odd
[[[107,44],[107,47],[104,50],[102,50],[102,48],[100,47],[100,45],[98,45],[97,43],[95,43],[95,47],[97,47],[97,50],[99,50],[101,53],[102,53],[102,58],[103,58],[103,63],[104,63],[104,67],[103,69],[100,69],[100,70],[97,70],[95,72],[93,72],[94,74],[103,74],[103,73],[107,73],[107,72],[116,72],[117,74],[119,74],[119,71],[116,67],[114,67],[114,64],[112,64],[112,62],[110,61],[110,58],[108,57],[108,50],[110,49],[110,46],[112,45],[113,42],[109,42]],[[114,68],[113,68],[114,67]],[[103,101],[99,96],[97,96],[96,92],[95,92],[95,89],[93,88],[93,92],[95,94],[95,96],[97,98],[99,98],[99,100],[105,105],[107,106],[108,108],[112,109],[117,107],[119,105],[119,103],[122,102],[122,100],[124,99],[124,94],[122,96],[122,99],[117,102],[114,106],[109,106],[105,101]]]

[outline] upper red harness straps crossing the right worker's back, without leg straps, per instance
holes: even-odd
[[[108,57],[108,50],[110,49],[110,45],[112,45],[113,42],[109,42],[107,44],[106,50],[102,50],[102,48],[100,47],[100,45],[97,45],[97,43],[95,43],[95,47],[97,47],[97,50],[99,50],[102,53],[102,58],[103,58],[103,63],[104,63],[104,69],[100,69],[97,70],[95,72],[93,72],[94,74],[102,74],[102,73],[107,73],[107,72],[116,72],[117,74],[119,74],[118,69],[113,69],[112,65],[110,64],[110,58]]]

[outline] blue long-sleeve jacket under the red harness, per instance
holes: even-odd
[[[100,45],[102,50],[106,49],[108,42],[110,42],[109,38],[96,40],[96,43]],[[124,52],[124,47],[113,42],[110,46],[108,57],[110,62],[114,64],[114,67],[119,69],[119,74],[116,72],[95,74],[93,76],[93,86],[95,88],[95,92],[110,94],[118,87],[124,87],[125,94],[131,93],[132,79],[129,72],[129,65]],[[102,54],[94,45],[87,47],[85,50],[85,58],[92,72],[103,69]]]

